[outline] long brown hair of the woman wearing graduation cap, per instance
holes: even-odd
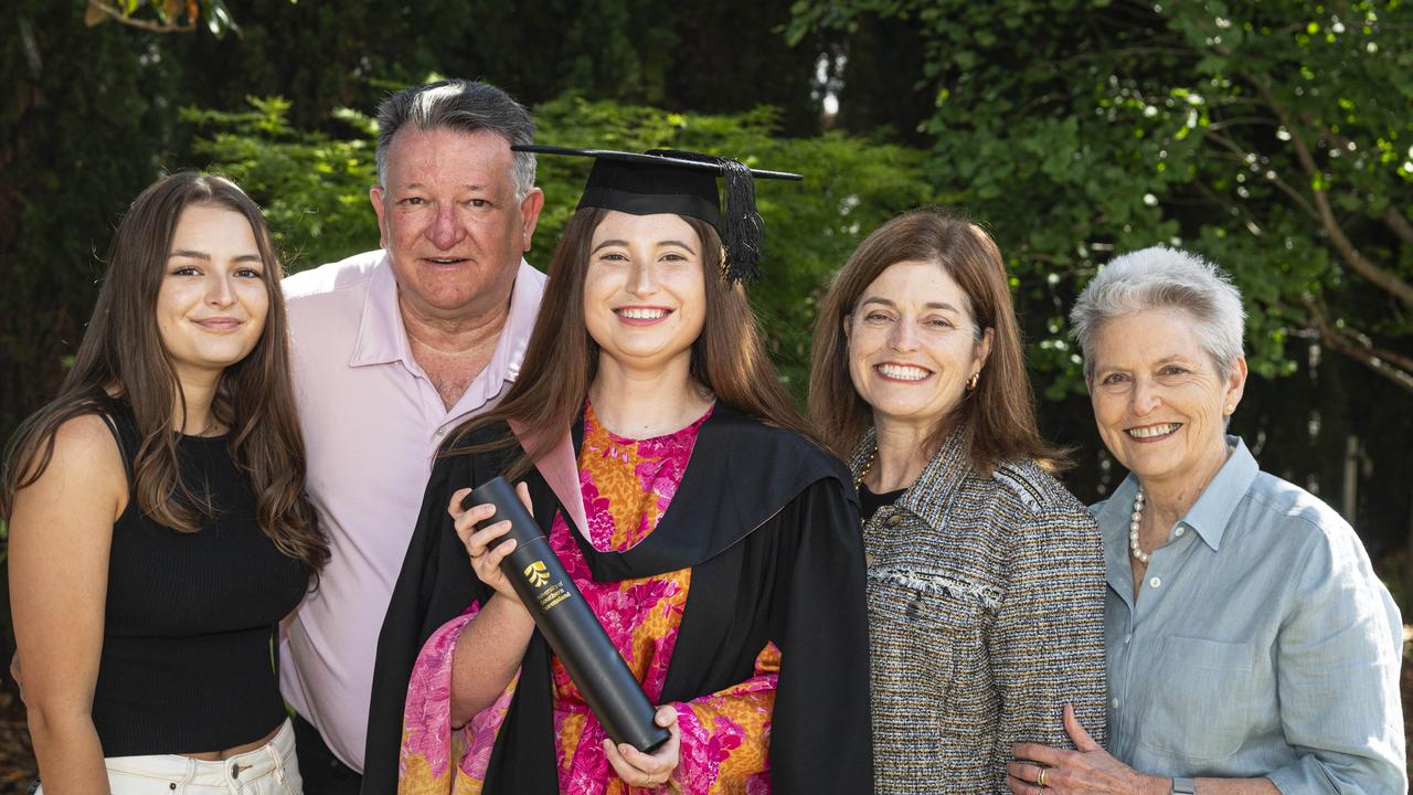
[[[462,423],[448,446],[465,434],[495,422],[516,422],[534,429],[569,429],[584,410],[589,385],[599,364],[599,347],[589,337],[584,317],[584,279],[589,266],[593,231],[609,211],[577,211],[564,229],[560,248],[550,260],[540,315],[526,349],[520,376],[493,410]],[[780,386],[774,365],[760,342],[760,328],[740,284],[719,277],[722,248],[715,226],[697,218],[680,216],[702,240],[702,274],[706,307],[702,332],[692,344],[691,375],[718,399],[747,414],[793,430],[817,441]],[[509,444],[503,439],[456,453],[483,453]],[[555,433],[538,434],[526,455],[512,464],[509,477],[519,477],[558,441]]]

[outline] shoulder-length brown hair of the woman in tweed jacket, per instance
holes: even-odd
[[[945,270],[971,303],[976,340],[993,330],[991,356],[976,389],[928,437],[937,450],[954,430],[965,434],[972,467],[989,474],[1002,461],[1034,458],[1057,468],[1064,451],[1040,439],[1034,393],[1026,373],[1016,308],[1006,266],[995,240],[981,226],[937,208],[904,212],[873,231],[835,276],[814,327],[810,417],[829,446],[848,457],[873,424],[872,409],[849,378],[844,324],[863,290],[900,262],[930,262]]]

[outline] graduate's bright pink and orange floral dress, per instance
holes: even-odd
[[[586,540],[599,552],[625,552],[647,539],[667,512],[706,412],[691,426],[654,439],[623,439],[598,422],[589,406],[579,451],[579,487],[588,516]],[[691,569],[664,574],[595,581],[562,515],[554,519],[550,545],[584,593],[629,669],[653,703],[663,685]],[[442,625],[422,646],[413,669],[403,714],[400,795],[476,795],[482,791],[496,734],[506,719],[519,678],[495,704],[465,727],[451,727],[451,666],[456,639],[479,603]],[[725,690],[675,703],[681,761],[671,785],[629,787],[603,754],[606,737],[584,696],[551,661],[554,729],[560,791],[569,795],[681,791],[694,795],[770,791],[767,748],[780,651],[766,644],[755,675]]]

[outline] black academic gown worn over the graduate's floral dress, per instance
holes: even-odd
[[[577,426],[575,450],[582,423]],[[489,427],[463,444],[506,434],[504,426]],[[496,477],[520,453],[516,444],[503,453],[445,457],[432,470],[379,637],[363,795],[397,789],[403,706],[422,644],[472,600],[492,593],[452,529],[451,494]],[[548,535],[560,499],[538,471],[524,481]],[[839,461],[718,402],[667,513],[647,539],[617,553],[593,549],[579,532],[574,538],[599,581],[692,569],[664,703],[747,679],[773,641],[781,651],[770,737],[773,791],[859,795],[873,791],[859,528]],[[536,632],[492,751],[486,795],[558,792],[550,658]]]

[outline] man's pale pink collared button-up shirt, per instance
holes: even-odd
[[[308,489],[332,557],[280,652],[280,687],[329,748],[363,770],[383,614],[432,455],[520,372],[545,276],[524,260],[490,364],[452,410],[413,359],[387,256],[367,252],[284,280]]]

